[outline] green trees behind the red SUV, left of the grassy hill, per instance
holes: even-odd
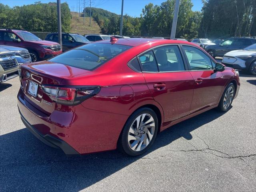
[[[71,30],[71,13],[67,3],[61,4],[62,30]],[[41,3],[14,6],[0,4],[0,28],[25,29],[36,32],[56,32],[57,3]]]

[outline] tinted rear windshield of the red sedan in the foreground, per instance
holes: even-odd
[[[49,61],[94,70],[130,48],[131,46],[126,45],[92,43],[64,52]]]

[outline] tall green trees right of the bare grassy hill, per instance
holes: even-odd
[[[226,38],[256,36],[256,0],[202,0],[201,12],[192,11],[191,0],[180,0],[177,38]],[[123,34],[127,36],[169,37],[175,0],[160,5],[147,4],[140,17],[124,15]],[[90,9],[85,8],[86,16]],[[119,34],[120,15],[92,8],[92,17],[102,33]]]

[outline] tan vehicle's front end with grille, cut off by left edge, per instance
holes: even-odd
[[[15,52],[0,47],[0,83],[18,76]]]

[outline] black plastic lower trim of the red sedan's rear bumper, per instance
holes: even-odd
[[[19,110],[20,112],[20,110]],[[24,125],[28,128],[28,130],[30,130],[30,132],[36,136],[36,138],[38,138],[41,142],[43,142],[44,144],[50,146],[50,147],[54,147],[54,148],[60,148],[64,151],[64,153],[66,155],[78,155],[79,153],[72,148],[69,144],[67,144],[65,141],[60,140],[58,138],[55,138],[49,134],[43,135],[40,132],[38,132],[25,118],[24,116],[21,114],[20,112],[20,118],[22,120],[22,122],[24,123]]]

